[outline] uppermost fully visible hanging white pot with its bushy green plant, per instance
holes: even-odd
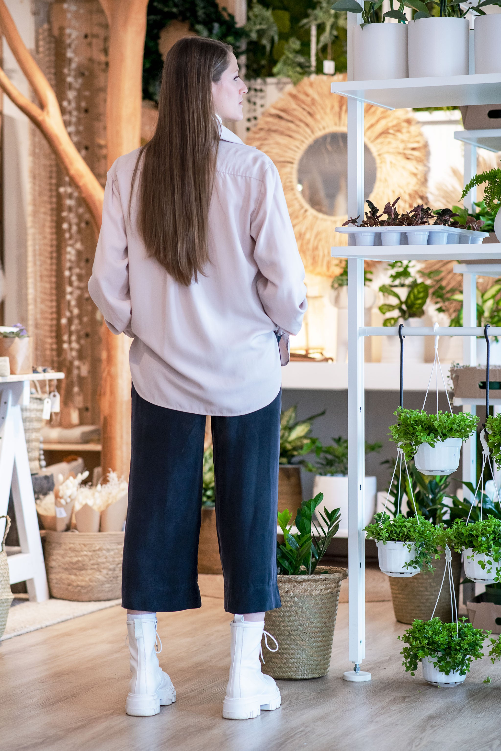
[[[407,461],[414,458],[424,475],[451,475],[459,466],[463,441],[475,432],[476,415],[469,412],[439,411],[428,415],[424,409],[399,407],[397,424],[390,426],[391,441],[403,449]]]

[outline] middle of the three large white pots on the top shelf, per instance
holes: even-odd
[[[469,20],[419,18],[408,26],[409,78],[468,74]]]

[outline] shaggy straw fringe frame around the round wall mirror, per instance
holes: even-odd
[[[330,94],[330,83],[342,80],[345,74],[303,79],[261,115],[247,137],[279,170],[306,271],[330,277],[342,264],[330,258],[330,246],[346,245],[346,235],[335,228],[347,217],[327,216],[306,203],[297,191],[297,165],[317,138],[347,132],[347,100]],[[399,208],[404,210],[427,201],[427,142],[409,110],[388,112],[367,104],[365,142],[376,160],[376,183],[367,198],[382,208],[400,195]]]

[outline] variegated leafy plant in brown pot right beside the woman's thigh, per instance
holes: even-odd
[[[315,448],[317,439],[310,436],[312,422],[324,414],[325,410],[306,420],[297,420],[297,405],[294,405],[280,416],[279,511],[297,508],[303,500],[301,467],[294,460]]]

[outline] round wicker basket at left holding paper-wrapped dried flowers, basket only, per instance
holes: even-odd
[[[62,600],[121,596],[125,532],[45,532],[50,594]]]

